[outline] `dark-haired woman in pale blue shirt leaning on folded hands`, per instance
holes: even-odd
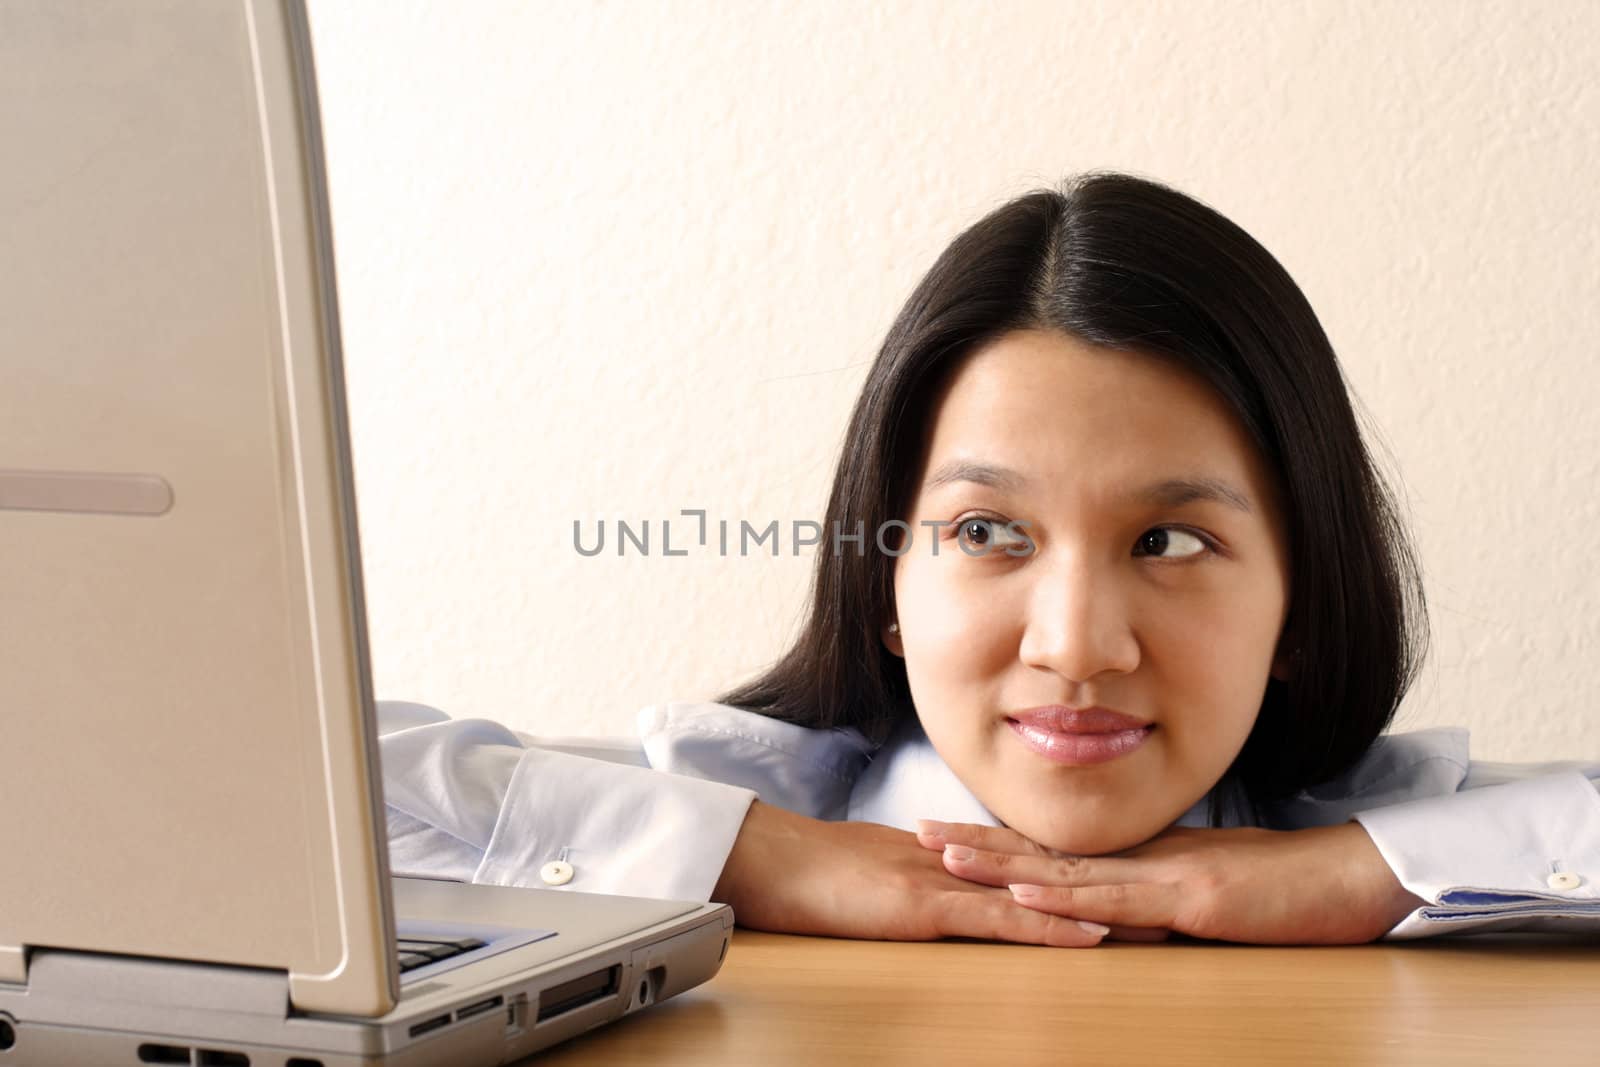
[[[646,709],[640,761],[685,777],[386,705],[395,869],[864,937],[1600,925],[1600,765],[1382,736],[1426,646],[1413,555],[1314,312],[1210,208],[1088,174],[962,234],[867,376],[824,526],[789,653]],[[1426,856],[1451,824],[1502,865]],[[659,843],[690,840],[674,870]]]

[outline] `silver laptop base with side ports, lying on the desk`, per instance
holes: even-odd
[[[402,920],[538,915],[563,933],[408,981],[376,1019],[290,1013],[283,971],[34,950],[27,985],[0,984],[0,1067],[509,1064],[710,979],[733,933],[718,904],[410,878],[395,897]],[[581,929],[597,913],[616,923],[598,947]]]

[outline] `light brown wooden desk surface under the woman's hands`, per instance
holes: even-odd
[[[707,985],[526,1061],[1600,1064],[1600,939],[1034,949],[738,931]]]

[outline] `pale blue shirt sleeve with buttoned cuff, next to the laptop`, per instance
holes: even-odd
[[[378,723],[397,875],[707,901],[757,795],[627,742],[531,745],[398,701]]]

